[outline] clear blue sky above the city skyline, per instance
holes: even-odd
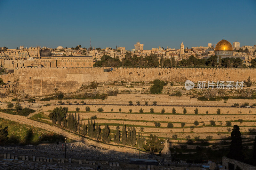
[[[256,0],[0,0],[0,47],[180,48],[217,44],[223,36],[256,44]]]

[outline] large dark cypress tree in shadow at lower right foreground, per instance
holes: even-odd
[[[236,159],[238,161],[244,160],[242,137],[241,137],[240,128],[237,125],[233,126],[233,129],[231,132],[231,143],[229,147],[228,158]]]

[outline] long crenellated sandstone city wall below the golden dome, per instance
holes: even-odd
[[[114,81],[151,82],[154,79],[185,82],[197,81],[242,81],[251,76],[256,81],[256,69],[183,69],[183,68],[114,68],[104,72],[103,68],[19,68],[14,70],[19,79],[19,89],[31,96],[48,95],[54,87],[60,91],[75,92],[81,85],[92,81],[101,83]]]

